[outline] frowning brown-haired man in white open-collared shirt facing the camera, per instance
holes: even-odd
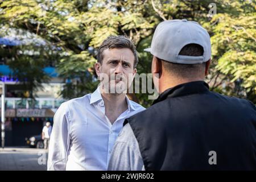
[[[137,72],[138,56],[131,40],[110,36],[98,49],[97,61],[100,86],[56,111],[48,170],[106,170],[123,121],[144,110],[123,92]]]

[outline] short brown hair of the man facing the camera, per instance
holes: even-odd
[[[103,51],[105,49],[113,49],[113,48],[129,48],[134,55],[134,64],[133,67],[136,68],[138,63],[138,55],[136,51],[136,47],[134,46],[133,42],[129,38],[125,36],[109,36],[104,42],[101,44],[100,48],[98,48],[97,53],[97,61],[98,63],[102,64],[103,60]]]

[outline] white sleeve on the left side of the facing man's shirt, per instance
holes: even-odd
[[[49,140],[48,171],[65,171],[66,169],[71,142],[69,135],[71,123],[68,117],[68,105],[64,102],[53,117],[52,133]]]

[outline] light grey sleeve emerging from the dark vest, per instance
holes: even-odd
[[[127,123],[115,141],[110,157],[109,171],[144,171],[139,144]]]

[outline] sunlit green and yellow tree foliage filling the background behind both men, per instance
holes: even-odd
[[[216,3],[216,15],[209,14],[210,3]],[[98,84],[93,69],[97,48],[109,35],[132,39],[139,53],[138,73],[150,73],[152,57],[143,49],[150,46],[155,27],[166,19],[185,18],[198,21],[210,33],[212,66],[207,81],[212,90],[256,103],[254,1],[0,0],[0,8],[0,28],[6,30],[0,36],[22,30],[45,42],[0,52],[11,68],[23,64],[17,73],[38,74],[31,80],[34,87],[47,80],[39,69],[55,65],[61,77],[71,79],[61,93],[65,98],[92,92]],[[24,53],[28,50],[39,54]],[[144,106],[151,103],[147,94],[137,98]]]

